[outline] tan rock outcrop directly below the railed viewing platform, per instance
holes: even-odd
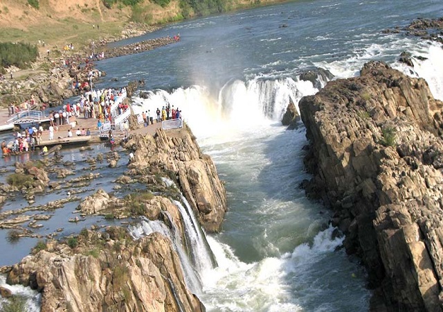
[[[169,173],[201,225],[210,232],[219,231],[226,211],[226,191],[212,159],[201,153],[187,126],[168,133],[160,128],[154,137],[131,135],[125,147],[134,153],[129,168],[136,168],[137,173]]]

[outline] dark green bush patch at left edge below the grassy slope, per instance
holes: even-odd
[[[14,65],[24,69],[30,65],[30,62],[35,62],[38,55],[37,46],[31,44],[0,43],[0,67]]]

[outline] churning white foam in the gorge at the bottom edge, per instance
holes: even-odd
[[[312,244],[299,245],[292,253],[254,263],[239,261],[228,245],[208,237],[219,267],[204,277],[201,300],[208,311],[304,311],[294,295],[303,281],[298,283],[291,276],[312,270],[341,245],[342,239],[332,239],[333,230],[329,227],[318,233]],[[309,296],[311,300],[314,295]]]

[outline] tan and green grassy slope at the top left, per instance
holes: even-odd
[[[260,0],[260,4],[282,0]],[[232,10],[257,5],[255,0],[231,0]],[[28,0],[3,0],[0,2],[0,42],[28,42],[37,44],[44,40],[40,52],[46,49],[62,49],[73,43],[82,47],[92,40],[119,37],[127,22],[135,17],[144,18],[149,24],[164,24],[181,19],[179,0],[171,0],[166,8],[143,1],[136,10],[114,6],[107,9],[101,0],[39,0],[39,9]],[[100,31],[92,25],[99,24]],[[42,55],[43,55],[42,54]]]

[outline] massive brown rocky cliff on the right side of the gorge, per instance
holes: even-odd
[[[299,104],[314,174],[347,252],[374,288],[373,311],[442,311],[443,103],[382,62]]]

